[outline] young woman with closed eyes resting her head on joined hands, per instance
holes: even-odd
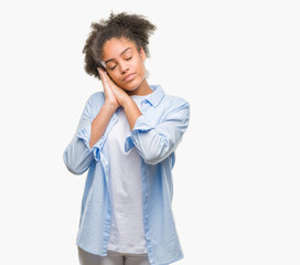
[[[174,151],[189,103],[149,85],[144,61],[156,30],[144,17],[111,13],[92,24],[85,70],[100,78],[64,151],[88,170],[76,244],[82,265],[167,265],[183,257],[172,214]]]

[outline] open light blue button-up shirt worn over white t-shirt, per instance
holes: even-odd
[[[125,151],[136,147],[142,158],[142,218],[150,264],[168,265],[183,257],[172,213],[172,168],[174,151],[189,125],[190,105],[165,95],[159,85],[150,87],[153,92],[142,102],[142,115],[125,141]],[[63,155],[72,173],[88,170],[76,244],[100,256],[107,255],[111,223],[106,139],[118,119],[115,113],[101,138],[90,148],[92,121],[104,102],[103,92],[88,98],[76,134]]]

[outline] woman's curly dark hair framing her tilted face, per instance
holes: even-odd
[[[104,44],[113,38],[127,38],[132,41],[137,49],[143,49],[149,57],[149,36],[157,29],[149,20],[141,14],[128,14],[121,12],[110,13],[107,20],[93,22],[83,53],[85,54],[85,71],[100,80],[97,67],[101,66],[101,55]]]

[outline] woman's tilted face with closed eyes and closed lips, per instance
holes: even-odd
[[[126,38],[108,40],[101,59],[109,76],[125,91],[135,91],[144,80],[144,51],[138,51],[137,45]]]

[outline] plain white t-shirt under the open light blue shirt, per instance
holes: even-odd
[[[137,106],[146,96],[131,96]],[[110,161],[111,231],[108,250],[120,253],[147,253],[142,220],[141,158],[133,147],[125,152],[131,134],[125,110],[107,137]]]

